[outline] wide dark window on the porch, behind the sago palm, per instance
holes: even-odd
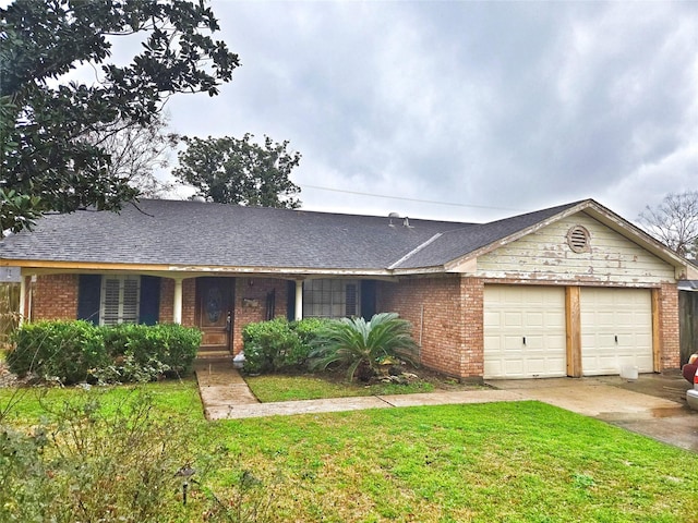
[[[345,318],[358,316],[359,283],[351,280],[308,280],[303,283],[303,316]]]

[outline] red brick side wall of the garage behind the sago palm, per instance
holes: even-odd
[[[421,344],[422,365],[449,376],[466,377],[460,292],[458,276],[381,282],[377,309],[398,313],[412,324],[412,336]]]

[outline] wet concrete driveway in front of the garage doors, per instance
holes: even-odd
[[[595,417],[618,427],[698,452],[698,412],[686,404],[691,385],[678,374],[489,380],[501,390]]]

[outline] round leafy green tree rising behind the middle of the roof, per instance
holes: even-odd
[[[224,136],[182,139],[186,149],[179,153],[180,167],[172,173],[180,182],[197,188],[203,196],[219,204],[296,209],[300,200],[293,194],[300,187],[289,180],[301,160],[299,153],[287,151],[288,142],[275,144],[268,136],[264,145]]]

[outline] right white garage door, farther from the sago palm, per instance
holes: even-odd
[[[579,306],[585,376],[619,374],[626,365],[654,369],[651,291],[585,288]]]

